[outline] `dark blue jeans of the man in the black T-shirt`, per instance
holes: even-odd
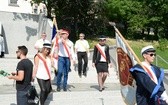
[[[17,105],[28,105],[27,91],[17,91]]]

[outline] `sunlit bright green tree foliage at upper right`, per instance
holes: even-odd
[[[152,27],[155,36],[168,39],[167,0],[107,0],[106,7],[109,20],[123,24],[125,37]]]

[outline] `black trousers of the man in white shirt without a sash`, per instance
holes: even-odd
[[[87,53],[86,52],[78,52],[77,57],[78,57],[78,73],[79,73],[79,75],[81,75],[82,72],[83,72],[83,74],[85,74],[86,68],[88,65]],[[82,67],[82,60],[84,61],[83,67]]]

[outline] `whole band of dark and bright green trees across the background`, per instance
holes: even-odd
[[[83,32],[86,36],[114,35],[109,21],[116,22],[125,38],[154,29],[154,38],[168,39],[168,0],[33,0],[47,6],[48,17],[55,14],[58,27],[69,27],[71,39]],[[149,34],[149,32],[148,32]],[[143,38],[143,37],[142,37]]]

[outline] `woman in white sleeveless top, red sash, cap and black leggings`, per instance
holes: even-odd
[[[34,58],[33,79],[36,77],[40,86],[40,105],[44,105],[51,87],[51,68],[53,61],[49,56],[51,43],[44,43],[41,52],[37,53]]]

